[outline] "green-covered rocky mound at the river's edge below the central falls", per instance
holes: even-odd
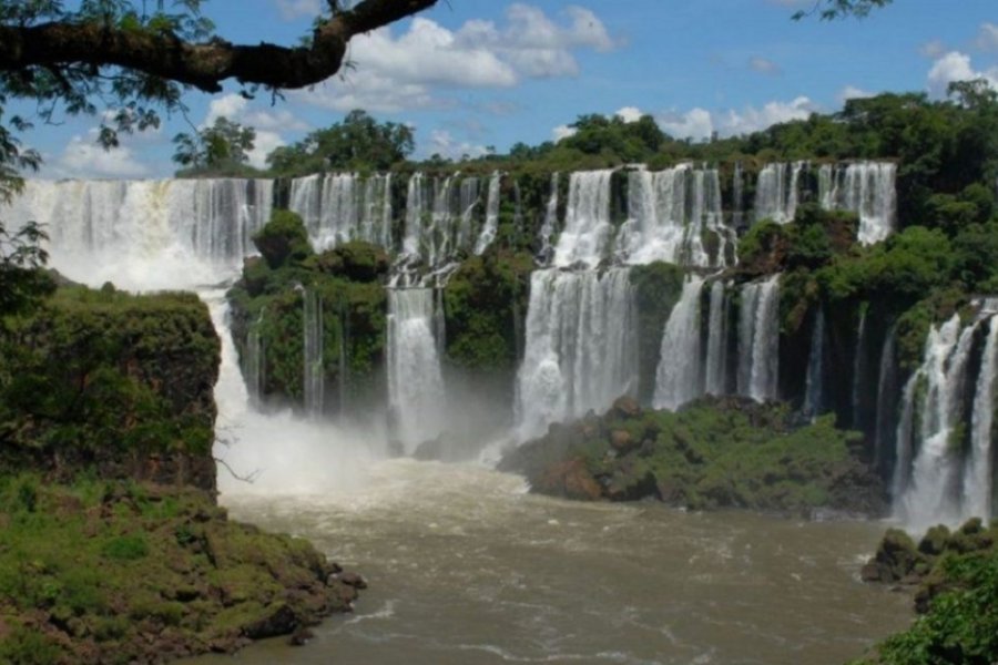
[[[536,492],[587,501],[882,514],[886,490],[858,461],[858,439],[832,416],[795,426],[781,405],[706,398],[670,412],[622,397],[601,417],[552,424],[500,469]]]

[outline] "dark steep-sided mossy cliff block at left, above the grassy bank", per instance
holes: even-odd
[[[205,453],[217,362],[196,296],[62,289],[0,329],[0,467]]]

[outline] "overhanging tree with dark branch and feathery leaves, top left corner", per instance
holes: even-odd
[[[0,111],[9,100],[39,104],[44,122],[60,113],[95,115],[96,101],[114,108],[100,141],[159,125],[160,112],[182,111],[182,92],[215,93],[235,80],[244,94],[279,95],[322,82],[344,64],[357,34],[387,25],[437,0],[363,0],[344,9],[327,0],[302,45],[234,44],[213,35],[204,0],[0,0]],[[0,115],[2,117],[2,115]],[[11,117],[16,131],[28,125]],[[0,127],[0,176],[21,165],[9,130]],[[30,155],[29,155],[30,156]],[[37,162],[35,162],[37,163]]]

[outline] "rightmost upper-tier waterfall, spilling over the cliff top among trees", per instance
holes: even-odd
[[[859,215],[857,239],[864,245],[877,243],[896,225],[896,173],[897,165],[890,162],[823,165],[818,170],[818,201],[825,209]]]

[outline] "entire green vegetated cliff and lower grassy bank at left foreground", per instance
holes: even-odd
[[[355,575],[215,505],[218,338],[192,294],[64,287],[0,318],[0,661],[233,651]]]

